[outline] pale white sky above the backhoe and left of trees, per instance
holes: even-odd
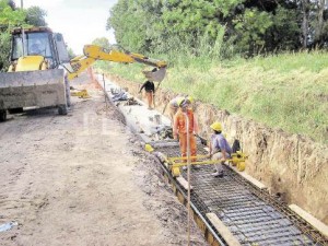
[[[83,46],[97,37],[108,38],[115,44],[114,31],[106,31],[109,9],[117,0],[23,0],[24,9],[37,5],[47,12],[48,27],[61,33],[75,55],[83,54]],[[15,0],[21,8],[21,0]]]

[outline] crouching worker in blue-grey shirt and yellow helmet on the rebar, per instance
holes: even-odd
[[[212,161],[218,160],[215,172],[212,174],[214,177],[223,177],[223,163],[231,157],[232,148],[222,134],[222,126],[215,121],[211,126],[213,134],[210,141],[210,157]]]

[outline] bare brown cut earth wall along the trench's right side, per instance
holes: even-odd
[[[117,75],[107,77],[137,96],[138,83]],[[171,91],[157,90],[156,109],[168,114],[166,105],[175,96]],[[195,113],[202,137],[209,139],[209,126],[215,120],[221,121],[230,142],[238,139],[243,151],[249,155],[246,163],[248,174],[266,184],[272,195],[280,195],[286,203],[296,203],[328,224],[327,144],[268,128],[201,102],[195,103]]]

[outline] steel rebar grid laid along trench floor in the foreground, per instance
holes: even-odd
[[[156,152],[167,157],[178,156],[177,147],[161,142]],[[202,147],[199,154],[204,154]],[[163,174],[173,186],[173,190],[183,203],[187,203],[187,190],[172,176],[162,164]],[[260,189],[230,166],[224,166],[224,177],[213,177],[212,165],[199,169],[191,168],[190,185],[194,219],[204,233],[210,245],[231,245],[207,218],[214,213],[232,232],[241,245],[328,245],[328,239],[308,222],[293,212],[286,204]],[[186,171],[181,175],[187,179]]]

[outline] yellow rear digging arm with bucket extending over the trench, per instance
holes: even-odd
[[[96,60],[107,60],[121,63],[139,62],[152,66],[155,68],[152,71],[142,71],[145,78],[151,81],[161,82],[166,73],[167,63],[165,61],[151,59],[143,55],[130,52],[124,49],[105,49],[96,45],[86,45],[84,46],[83,54],[83,56],[75,57],[70,61],[71,69],[68,69],[69,80],[78,77]]]

